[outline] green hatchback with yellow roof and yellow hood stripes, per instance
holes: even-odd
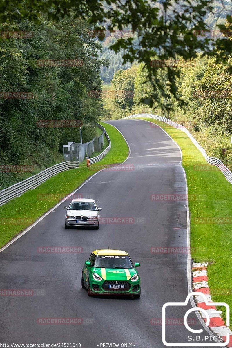
[[[94,250],[82,269],[81,286],[92,295],[141,294],[140,277],[136,271],[140,263],[133,263],[121,250]]]

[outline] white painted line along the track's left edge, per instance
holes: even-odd
[[[105,122],[105,123],[107,123],[107,122]],[[107,124],[109,124],[109,123],[107,123]],[[117,129],[118,132],[122,135],[123,139],[126,141],[124,135],[120,132],[120,130],[119,130],[117,127],[115,127],[115,126],[113,126],[113,125],[111,125],[111,124],[109,124],[109,125],[112,126],[112,127],[114,127],[115,129]],[[121,164],[115,166],[115,168],[117,168],[117,167],[121,166],[123,163],[125,163],[126,160],[127,160],[127,159],[129,158],[129,156],[130,156],[130,147],[129,147],[129,144],[128,144],[127,141],[126,141],[126,143],[127,143],[128,148],[129,148],[129,154],[128,154],[127,158],[125,159],[125,161],[123,161]],[[109,152],[110,152],[110,151],[109,151]],[[108,152],[108,153],[109,153],[109,152]],[[90,179],[92,179],[92,177],[94,177],[96,174],[100,173],[101,171],[104,171],[105,169],[106,169],[106,168],[103,168],[103,169],[101,169],[100,171],[98,171],[98,172],[94,173],[93,175],[91,175],[91,176],[90,176],[87,180],[85,180],[77,189],[75,189],[73,192],[67,194],[67,196],[72,196],[75,192],[77,192],[78,190],[80,190],[80,188],[82,188],[82,186],[84,186]],[[46,212],[46,213],[43,214],[41,217],[39,217],[39,219],[37,219],[35,222],[33,222],[32,225],[30,225],[29,227],[27,227],[24,231],[20,232],[14,239],[12,239],[9,243],[7,243],[6,245],[4,245],[4,246],[0,249],[0,253],[1,253],[3,250],[5,250],[6,248],[8,248],[8,246],[10,246],[10,245],[13,244],[14,242],[16,242],[17,239],[19,239],[19,238],[21,238],[23,235],[25,235],[26,232],[30,231],[34,226],[36,226],[41,220],[43,220],[48,214],[50,214],[52,211],[54,211],[54,209],[56,209],[59,205],[63,204],[66,200],[67,200],[67,198],[62,199],[59,203],[57,203],[54,207],[52,207],[48,212]]]

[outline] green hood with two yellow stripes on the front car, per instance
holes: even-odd
[[[134,268],[93,268],[105,280],[129,280],[137,271]]]

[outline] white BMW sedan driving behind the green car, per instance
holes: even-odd
[[[99,211],[94,199],[73,199],[69,207],[64,207],[65,228],[70,226],[88,226],[98,230],[99,228]]]

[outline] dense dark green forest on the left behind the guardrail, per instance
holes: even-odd
[[[62,162],[62,145],[80,142],[81,124],[82,142],[93,139],[102,112],[89,94],[101,90],[106,61],[85,19],[56,22],[43,15],[39,25],[25,20],[17,28],[5,23],[1,33],[8,36],[0,38],[0,187]],[[66,125],[53,122],[59,120]],[[7,172],[5,165],[33,170]]]

